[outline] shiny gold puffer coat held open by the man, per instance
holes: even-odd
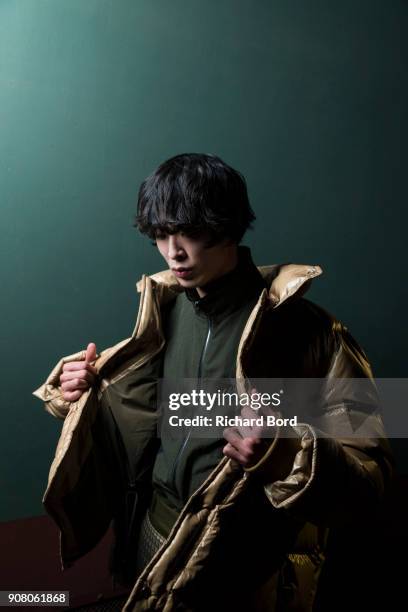
[[[322,428],[333,431],[345,414],[362,410],[348,381],[372,378],[367,359],[339,321],[301,297],[321,274],[318,266],[259,270],[269,289],[242,333],[236,377],[344,379],[335,391],[327,387]],[[162,313],[180,287],[170,271],[144,275],[137,287],[134,332],[97,358],[98,384],[77,402],[63,399],[63,364],[84,359],[81,351],[61,359],[34,392],[64,419],[43,501],[61,530],[65,566],[96,545],[114,514],[115,472],[96,426],[107,393],[116,397],[120,388],[132,397],[136,483],[148,480],[157,450],[155,401],[154,395],[146,400],[146,381],[157,376],[155,360],[165,347]],[[370,435],[364,439],[322,437],[308,424],[296,428],[297,438],[286,438],[278,428],[266,455],[248,470],[222,459],[186,503],[124,609],[310,610],[327,527],[371,512],[390,478],[381,419],[366,415],[365,423]]]

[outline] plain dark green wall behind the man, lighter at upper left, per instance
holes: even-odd
[[[176,153],[240,169],[255,261],[320,264],[312,299],[407,374],[407,31],[403,1],[0,0],[1,520],[42,512],[32,390],[163,267],[132,220]]]

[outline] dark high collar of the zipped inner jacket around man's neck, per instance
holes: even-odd
[[[217,319],[238,310],[257,297],[266,283],[252,261],[248,247],[238,247],[236,267],[205,285],[206,294],[200,297],[197,289],[186,289],[185,294],[198,315]]]

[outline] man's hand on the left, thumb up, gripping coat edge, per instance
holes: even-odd
[[[62,368],[60,385],[62,397],[67,402],[76,402],[95,382],[97,371],[91,365],[96,359],[96,345],[90,342],[86,349],[85,361],[69,361]]]

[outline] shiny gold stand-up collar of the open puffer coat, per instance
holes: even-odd
[[[304,295],[312,279],[323,273],[320,266],[294,263],[258,266],[258,271],[264,279],[268,298],[273,307],[279,306],[295,295],[296,297]],[[136,284],[139,292],[143,289],[145,277],[144,274]],[[164,301],[174,297],[175,293],[183,291],[171,270],[157,272],[150,275],[149,278],[160,290]]]

